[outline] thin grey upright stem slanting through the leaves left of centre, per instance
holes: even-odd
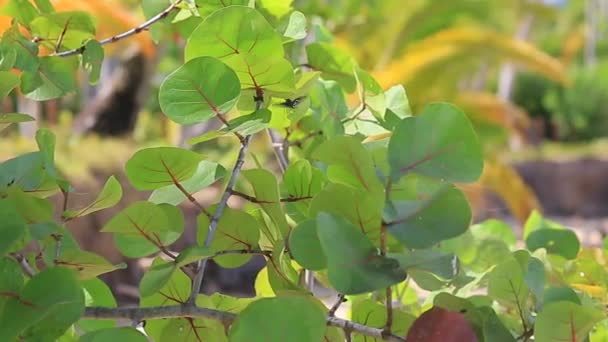
[[[261,90],[255,97],[256,102],[256,110],[260,110],[262,105],[264,104],[263,94]],[[207,237],[205,238],[205,247],[211,246],[211,242],[215,236],[215,231],[217,230],[217,225],[224,213],[224,209],[228,204],[228,199],[232,196],[232,191],[234,189],[234,185],[236,183],[236,179],[241,172],[241,168],[245,164],[245,155],[247,153],[247,147],[249,146],[249,142],[251,141],[251,135],[248,135],[243,139],[241,143],[241,148],[239,149],[239,154],[236,158],[236,162],[234,164],[234,168],[232,169],[232,174],[230,175],[230,179],[228,180],[228,184],[226,185],[226,190],[222,194],[222,198],[218,203],[213,216],[211,217],[211,221],[209,222],[209,231],[207,233]],[[203,284],[203,277],[205,276],[205,269],[207,268],[207,262],[209,258],[202,259],[198,262],[197,273],[192,281],[192,292],[190,293],[190,297],[188,298],[188,304],[194,305],[196,303],[196,298],[201,290],[201,285]]]

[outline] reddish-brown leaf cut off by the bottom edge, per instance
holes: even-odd
[[[463,314],[433,307],[410,328],[406,342],[477,342],[477,335]]]

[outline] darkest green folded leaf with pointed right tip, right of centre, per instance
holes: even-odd
[[[399,263],[378,254],[374,245],[342,217],[320,213],[317,235],[327,257],[329,281],[344,294],[360,294],[405,280]]]

